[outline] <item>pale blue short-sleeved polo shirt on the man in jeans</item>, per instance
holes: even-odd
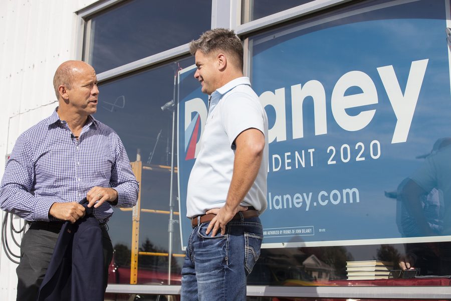
[[[249,78],[240,77],[211,94],[200,150],[188,181],[187,217],[224,206],[234,171],[233,143],[249,128],[260,130],[266,143],[257,178],[241,205],[253,206],[259,213],[266,209],[268,117]]]

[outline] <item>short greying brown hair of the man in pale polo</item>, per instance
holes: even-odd
[[[236,58],[235,65],[243,70],[243,44],[232,29],[215,28],[204,32],[199,39],[189,43],[189,52],[209,54],[212,51],[224,51]]]

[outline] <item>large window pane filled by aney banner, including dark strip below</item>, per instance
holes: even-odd
[[[264,243],[290,244],[263,249],[249,284],[451,284],[349,281],[346,270],[408,261],[420,276],[451,274],[445,12],[445,2],[353,2],[249,38],[270,124]],[[301,227],[309,235],[292,235]]]

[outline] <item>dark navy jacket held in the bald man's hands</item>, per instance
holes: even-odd
[[[100,301],[104,298],[102,229],[80,202],[84,218],[61,228],[55,250],[38,293],[38,301]]]

